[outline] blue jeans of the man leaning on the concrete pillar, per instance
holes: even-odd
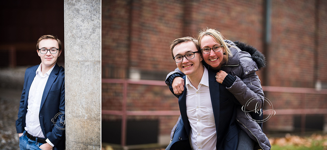
[[[35,142],[26,136],[26,131],[23,132],[23,135],[19,137],[19,148],[21,150],[40,150],[40,146],[43,143]]]

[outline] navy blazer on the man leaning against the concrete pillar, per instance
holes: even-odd
[[[23,133],[26,126],[28,92],[38,67],[39,65],[29,67],[25,72],[24,88],[19,104],[18,119],[16,120],[17,133]],[[45,139],[48,138],[60,150],[65,149],[65,130],[62,130],[65,127],[63,124],[57,123],[57,127],[61,128],[59,129],[51,121],[55,117],[57,121],[54,122],[58,122],[60,119],[64,120],[61,118],[64,114],[56,116],[59,112],[65,112],[65,71],[56,63],[43,91],[39,120]]]

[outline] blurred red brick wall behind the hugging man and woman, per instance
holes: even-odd
[[[197,37],[199,30],[208,27],[217,29],[229,40],[246,42],[267,54],[268,66],[258,72],[265,86],[314,88],[316,80],[325,85],[327,4],[322,0],[272,1],[271,43],[264,49],[265,4],[263,0],[104,0],[102,77],[132,78],[129,72],[138,70],[164,80],[176,68],[169,50],[171,41],[183,36]],[[103,110],[120,110],[121,90],[119,84],[102,84]],[[127,109],[178,110],[177,99],[169,94],[167,87],[129,86]],[[324,95],[302,97],[267,92],[266,96],[275,109],[298,109],[304,105],[327,108],[321,105],[326,100]],[[165,118],[169,116],[142,117],[159,119],[160,134],[170,134],[168,129],[176,122]],[[273,116],[265,128],[292,127],[292,117]],[[114,117],[103,116],[110,118]],[[284,119],[288,121],[283,122]]]

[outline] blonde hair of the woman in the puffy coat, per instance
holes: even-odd
[[[200,33],[199,33],[199,36],[198,36],[199,41],[201,40],[201,38],[204,35],[212,36],[217,43],[222,45],[222,47],[225,49],[225,53],[226,53],[226,56],[227,56],[226,61],[228,61],[229,57],[233,56],[232,51],[229,49],[229,47],[234,47],[234,46],[224,42],[225,37],[219,31],[214,30],[214,29],[208,29],[208,28],[203,29],[203,31],[200,31]],[[200,45],[200,47],[201,47],[201,45]]]

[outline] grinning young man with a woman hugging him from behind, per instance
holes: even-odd
[[[198,40],[179,38],[170,49],[177,67],[186,75],[186,90],[176,95],[181,120],[167,149],[236,149],[235,98],[215,80],[216,74],[202,65]]]

